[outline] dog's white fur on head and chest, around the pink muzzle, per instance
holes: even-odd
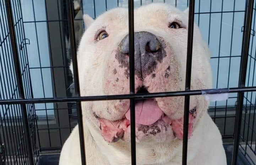
[[[186,31],[168,29],[168,22],[179,18],[187,26],[187,14],[166,4],[151,4],[135,10],[135,31],[148,31],[165,37],[174,53],[179,74],[185,80],[186,68]],[[85,19],[86,18],[86,19]],[[78,72],[82,96],[111,94],[112,88],[104,86],[104,76],[112,51],[128,33],[127,9],[113,9],[99,16],[96,21],[88,19],[90,26],[83,34],[78,48]],[[87,25],[86,25],[87,26]],[[106,27],[107,39],[94,43],[97,29]],[[174,30],[174,31],[173,31]],[[207,44],[202,40],[195,24],[192,89],[212,88],[212,75],[209,64],[210,53]],[[72,70],[72,65],[71,65]],[[198,83],[198,81],[200,81]],[[185,81],[178,83],[184,90]],[[114,89],[113,89],[114,90]],[[110,92],[109,92],[110,91]],[[159,91],[160,92],[160,91]],[[120,93],[121,94],[121,93]],[[217,126],[207,114],[208,102],[202,96],[191,96],[191,106],[198,101],[198,116],[194,123],[193,136],[188,143],[188,165],[226,165],[226,157],[222,146],[222,137]],[[182,103],[182,99],[180,100]],[[109,102],[82,102],[83,127],[85,135],[86,161],[93,165],[129,165],[131,164],[130,142],[119,140],[115,143],[104,141],[97,127],[92,112],[104,109]],[[112,102],[110,102],[112,103]],[[110,104],[109,103],[109,104]],[[177,107],[183,107],[178,105]],[[182,109],[182,108],[181,108]],[[120,114],[101,112],[105,119],[116,120]],[[183,116],[183,111],[175,112],[175,117]],[[137,165],[180,165],[182,159],[182,141],[174,138],[157,143],[136,143]],[[78,126],[65,142],[59,165],[81,165]]]

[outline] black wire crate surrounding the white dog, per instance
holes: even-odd
[[[29,2],[29,3],[28,3]],[[208,1],[208,9],[206,11],[204,3],[200,0],[171,0],[176,7],[179,4],[185,4],[183,7],[189,6],[189,30],[188,30],[188,48],[187,48],[187,67],[186,67],[186,90],[180,92],[168,93],[149,93],[149,94],[134,94],[134,7],[147,4],[149,2],[167,2],[167,0],[140,0],[140,1],[125,1],[125,0],[83,0],[83,1],[60,1],[60,0],[45,0],[40,1],[26,0],[5,0],[0,1],[0,165],[12,164],[43,164],[43,158],[49,158],[48,153],[58,153],[65,142],[65,139],[70,134],[72,128],[78,122],[81,142],[81,157],[82,163],[86,164],[86,157],[83,139],[82,117],[81,117],[81,101],[91,100],[109,100],[109,99],[130,99],[131,101],[131,162],[136,164],[135,152],[135,99],[155,98],[155,97],[174,97],[184,96],[184,141],[183,141],[183,165],[186,164],[187,158],[187,125],[188,125],[188,103],[190,95],[201,95],[203,93],[217,94],[230,93],[229,97],[222,106],[219,106],[218,101],[214,106],[209,107],[209,113],[212,119],[223,135],[223,140],[227,145],[232,147],[232,165],[235,164],[256,164],[256,130],[254,125],[255,109],[256,109],[256,83],[255,77],[255,62],[256,62],[256,46],[255,37],[255,2],[253,0],[234,0],[232,9],[224,10],[227,2],[220,0],[222,4],[220,10],[213,8],[213,4],[218,4],[217,1]],[[31,4],[31,15],[33,20],[26,20],[24,12],[26,5]],[[101,4],[100,11],[97,11],[97,3]],[[86,4],[86,5],[85,5]],[[88,7],[88,6],[92,7]],[[230,5],[230,6],[232,6]],[[241,6],[239,6],[241,5]],[[103,12],[113,7],[122,6],[129,8],[129,39],[130,39],[130,94],[129,95],[108,95],[108,96],[88,96],[80,97],[80,88],[78,83],[77,63],[76,63],[76,43],[81,37],[82,13],[87,11],[96,18],[97,12]],[[197,6],[197,7],[196,7]],[[239,9],[236,9],[239,6]],[[86,8],[86,9],[84,9]],[[182,8],[182,6],[181,6]],[[207,8],[207,7],[206,7]],[[227,7],[228,8],[228,7]],[[43,9],[45,18],[41,19],[38,15],[38,9]],[[208,10],[207,9],[207,10]],[[57,11],[57,12],[56,12]],[[217,17],[215,17],[218,15]],[[231,16],[231,17],[230,17]],[[216,89],[212,90],[190,90],[191,78],[191,60],[192,60],[192,41],[193,41],[193,26],[194,17],[200,29],[206,28],[208,33],[205,35],[208,38],[208,45],[213,45],[213,63],[217,63]],[[211,37],[214,34],[211,28],[212,18],[219,17],[219,42],[214,45],[211,42]],[[225,17],[230,17],[230,29],[225,29]],[[243,22],[239,22],[241,27],[237,30],[236,17],[243,18]],[[208,20],[208,27],[205,27],[202,22]],[[201,20],[201,23],[200,23]],[[203,20],[203,21],[202,21]],[[238,23],[238,24],[239,24]],[[35,30],[35,39],[31,39],[26,32],[28,27],[33,27]],[[40,42],[45,36],[42,36],[39,29],[45,26],[47,29],[47,47],[49,49],[49,65],[43,63],[42,47]],[[78,29],[77,29],[78,26]],[[80,29],[79,29],[80,28]],[[223,30],[224,29],[224,30]],[[229,55],[222,54],[222,44],[227,44],[223,37],[223,33],[231,31],[230,34],[230,52]],[[238,32],[240,33],[238,34]],[[213,33],[213,34],[212,34]],[[234,34],[234,35],[233,35]],[[78,36],[78,37],[77,37]],[[235,45],[235,40],[241,38],[240,48],[232,48]],[[224,42],[222,42],[224,40]],[[214,42],[216,43],[216,42]],[[37,54],[33,53],[29,46],[36,46]],[[61,51],[60,51],[61,50]],[[59,51],[59,52],[57,52]],[[238,55],[237,52],[241,52]],[[253,55],[254,54],[254,55]],[[34,56],[38,55],[38,66],[34,66]],[[72,59],[74,70],[74,84],[68,69],[68,62]],[[233,59],[237,59],[240,64],[238,76],[232,75]],[[228,66],[222,65],[222,62],[227,61]],[[220,85],[220,78],[223,75],[220,73],[220,67],[227,70],[228,75],[224,75],[227,79],[225,86]],[[248,71],[247,71],[248,70]],[[35,72],[37,71],[37,72]],[[35,96],[34,75],[39,74],[39,81],[42,84],[41,97]],[[48,95],[47,86],[49,82],[45,81],[45,75],[50,73],[51,92]],[[228,77],[228,78],[227,78]],[[237,77],[238,81],[235,86],[231,86],[232,78]],[[65,82],[65,83],[63,83]],[[58,86],[57,86],[58,84]],[[222,88],[220,88],[221,86]],[[38,88],[38,87],[37,87]],[[64,89],[64,90],[63,90]],[[67,90],[66,90],[67,89]],[[63,92],[64,91],[64,92]],[[229,105],[229,100],[235,100],[234,104]],[[75,104],[74,104],[75,103]],[[77,113],[76,113],[77,110]],[[42,117],[44,112],[45,116]],[[60,113],[61,112],[61,113]],[[69,121],[69,122],[67,122]],[[233,127],[232,127],[233,126]],[[58,155],[58,154],[57,154]],[[244,157],[243,157],[244,156]],[[57,156],[58,157],[58,156]],[[243,159],[243,160],[241,160]],[[58,162],[58,160],[57,160]],[[45,163],[46,164],[46,163]]]

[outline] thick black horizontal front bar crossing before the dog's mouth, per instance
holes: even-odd
[[[209,89],[214,90],[214,89]],[[64,103],[76,101],[97,101],[97,100],[122,100],[122,99],[149,99],[158,97],[175,97],[185,95],[201,95],[205,90],[190,90],[177,92],[160,92],[146,94],[122,94],[122,95],[101,95],[101,96],[85,96],[85,97],[69,97],[69,98],[34,98],[34,99],[11,99],[0,100],[0,105],[4,104],[28,104],[28,103]],[[237,92],[255,92],[256,87],[229,88],[228,93]],[[212,94],[218,94],[219,92]]]

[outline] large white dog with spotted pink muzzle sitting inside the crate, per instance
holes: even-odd
[[[82,96],[129,94],[128,10],[113,9],[95,21],[85,15],[78,48]],[[188,13],[167,4],[134,11],[136,93],[185,90]],[[210,53],[194,28],[191,89],[212,88]],[[72,69],[72,65],[71,65]],[[226,165],[220,132],[208,101],[190,97],[188,165]],[[130,102],[82,102],[89,165],[130,165]],[[137,165],[181,165],[184,97],[136,101]],[[78,126],[65,142],[60,165],[81,165]]]

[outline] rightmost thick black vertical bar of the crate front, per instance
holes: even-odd
[[[244,42],[242,45],[242,57],[241,57],[241,67],[240,67],[240,75],[239,75],[239,88],[245,86],[246,80],[246,70],[247,70],[247,62],[248,62],[248,53],[250,46],[250,35],[251,35],[251,23],[252,23],[252,11],[253,11],[254,0],[249,0],[246,10],[245,16],[245,28],[244,28]],[[236,121],[235,121],[235,133],[234,133],[234,148],[232,155],[232,165],[236,165],[238,149],[239,149],[239,139],[240,139],[240,131],[241,131],[241,122],[243,115],[243,102],[244,102],[244,92],[238,92],[238,105],[236,108]]]

